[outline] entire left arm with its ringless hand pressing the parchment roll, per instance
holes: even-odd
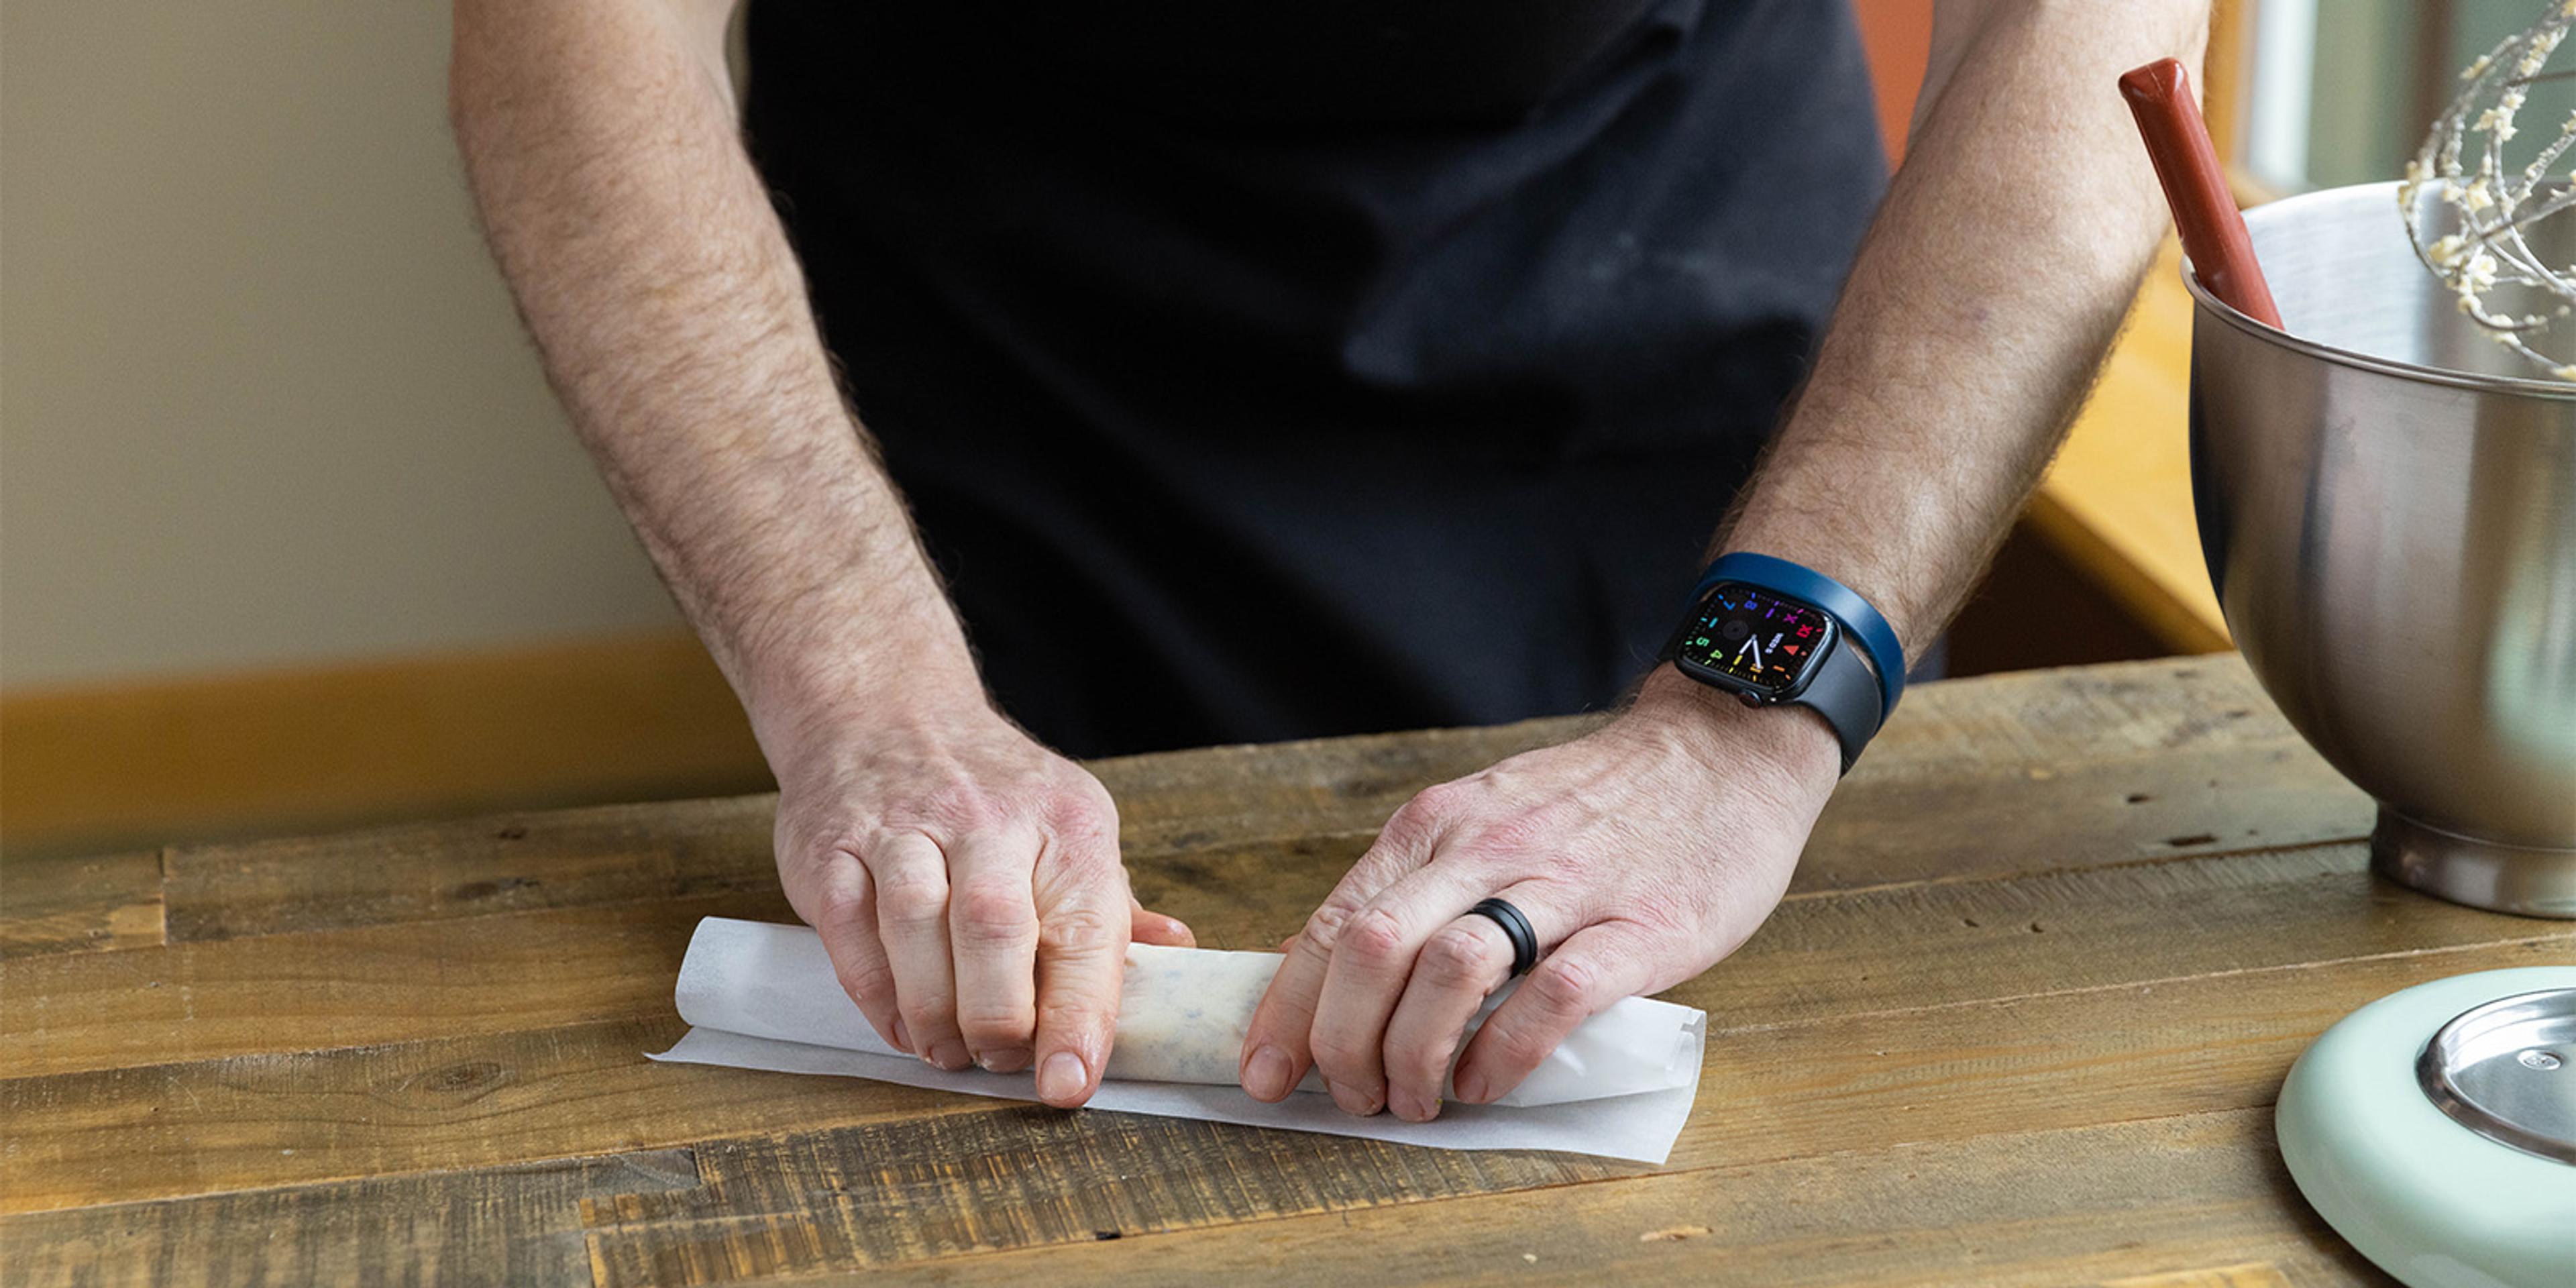
[[[1133,907],[1108,791],[984,698],[742,149],[732,0],[459,0],[451,103],[546,374],[778,775],[778,878],[868,1023],[1100,1084]]]

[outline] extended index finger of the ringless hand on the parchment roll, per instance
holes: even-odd
[[[1100,1087],[1126,984],[1128,891],[1115,842],[1066,837],[1038,860],[1038,1100]]]

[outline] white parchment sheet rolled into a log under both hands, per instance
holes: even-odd
[[[1584,1020],[1548,1064],[1494,1105],[1448,1103],[1430,1123],[1386,1113],[1352,1118],[1314,1077],[1298,1095],[1262,1105],[1234,1082],[1234,1069],[1252,1007],[1278,963],[1278,953],[1128,948],[1118,1043],[1092,1108],[1437,1149],[1564,1149],[1659,1164],[1700,1092],[1708,1012],[1631,997]],[[1507,994],[1510,987],[1494,994],[1486,1012]],[[886,1046],[832,976],[822,938],[804,925],[706,917],[680,963],[677,1005],[693,1028],[652,1059],[1038,1097],[1028,1072],[951,1074]]]

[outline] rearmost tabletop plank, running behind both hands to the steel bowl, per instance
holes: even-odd
[[[1154,902],[1229,853],[1288,853],[1340,876],[1414,791],[1582,726],[1213,747],[1095,770]],[[765,891],[770,817],[773,799],[744,796],[175,848],[170,938]],[[1996,837],[1996,817],[2014,819],[2012,837]],[[2367,799],[2298,742],[2233,657],[2025,672],[1911,696],[1826,809],[1793,889],[2236,853],[2367,827]]]

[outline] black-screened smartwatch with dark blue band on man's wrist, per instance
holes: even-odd
[[[1664,647],[1682,675],[1744,706],[1806,706],[1842,742],[1842,770],[1878,737],[1906,683],[1888,618],[1852,587],[1767,554],[1726,554]]]

